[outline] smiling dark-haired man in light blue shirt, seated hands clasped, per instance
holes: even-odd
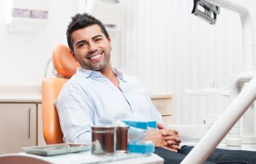
[[[161,115],[138,79],[112,68],[111,39],[103,24],[88,14],[75,15],[67,28],[67,42],[81,68],[65,83],[56,100],[64,141],[91,143],[92,125],[156,120],[158,129],[148,130],[145,140],[154,142],[157,155],[165,163],[181,163],[192,147],[178,146],[178,132],[164,128]],[[254,163],[256,154],[216,149],[206,163],[234,161]]]

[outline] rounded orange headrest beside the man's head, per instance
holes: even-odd
[[[53,50],[52,60],[54,68],[61,77],[72,77],[77,67],[80,67],[80,64],[70,53],[69,47],[64,44],[60,44]]]

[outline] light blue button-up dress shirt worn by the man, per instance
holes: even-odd
[[[143,84],[113,69],[119,87],[99,71],[78,68],[56,99],[65,142],[91,143],[91,125],[114,125],[117,120],[156,120],[161,115]]]

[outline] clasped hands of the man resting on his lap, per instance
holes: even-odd
[[[160,123],[157,123],[156,129],[149,129],[147,131],[147,136],[144,141],[153,141],[155,147],[162,147],[168,149],[172,152],[178,152],[179,144],[181,143],[181,138],[178,136],[178,131],[174,129],[167,129]]]

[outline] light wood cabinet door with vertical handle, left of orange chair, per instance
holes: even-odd
[[[37,145],[37,105],[0,104],[0,154]]]

